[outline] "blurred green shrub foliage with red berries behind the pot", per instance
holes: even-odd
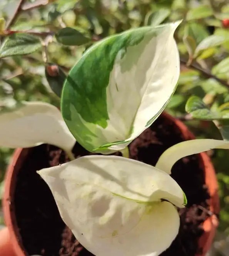
[[[175,34],[181,76],[167,111],[186,122],[197,137],[229,139],[226,0],[1,0],[1,17],[0,109],[21,100],[59,106],[52,90],[60,93],[65,74],[95,41],[129,28],[182,19]],[[0,194],[11,154],[11,149],[0,149]],[[209,154],[221,198],[220,241],[215,247],[227,255],[222,238],[225,242],[229,234],[229,152]]]

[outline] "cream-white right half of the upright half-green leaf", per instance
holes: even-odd
[[[108,126],[102,133],[107,142],[127,142],[109,149],[126,147],[169,102],[180,74],[179,52],[173,38],[179,23],[158,27],[161,31],[157,36],[150,40],[145,37],[140,44],[127,48],[122,59],[117,57],[107,87]],[[136,52],[141,54],[134,62]]]

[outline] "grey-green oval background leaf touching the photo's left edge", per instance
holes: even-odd
[[[0,58],[31,54],[40,47],[42,47],[42,44],[39,37],[25,33],[15,33],[3,42],[0,48]]]

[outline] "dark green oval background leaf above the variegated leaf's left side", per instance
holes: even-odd
[[[86,37],[80,31],[74,28],[62,28],[56,34],[57,42],[64,45],[83,45],[90,42],[90,38]]]

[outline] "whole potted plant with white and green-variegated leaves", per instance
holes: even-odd
[[[160,115],[174,93],[180,60],[174,31],[180,22],[141,27],[107,37],[87,49],[65,80],[61,112],[22,102],[0,115],[0,145],[48,143],[70,162],[38,171],[60,215],[96,256],[150,255],[167,249],[179,231],[177,208],[187,200],[170,177],[174,163],[227,141],[202,139],[167,149],[155,167],[128,158],[128,144]],[[74,159],[75,141],[104,155]],[[152,152],[153,154],[153,152]]]

